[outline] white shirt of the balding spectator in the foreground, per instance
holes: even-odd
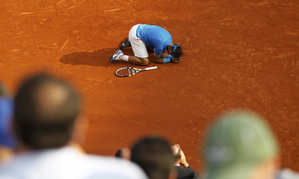
[[[73,147],[16,155],[0,165],[0,179],[147,179],[132,162],[86,155]]]

